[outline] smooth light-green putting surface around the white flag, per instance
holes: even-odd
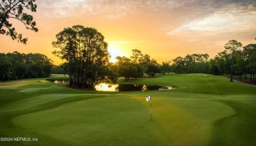
[[[12,122],[72,145],[205,145],[212,121],[234,114],[223,103],[201,99],[156,98],[153,105],[152,121],[144,97],[117,96],[74,101]],[[196,134],[202,134],[200,139]]]

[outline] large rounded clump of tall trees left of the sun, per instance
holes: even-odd
[[[53,54],[65,60],[64,69],[70,76],[70,86],[95,88],[98,82],[116,82],[108,69],[110,54],[104,36],[95,28],[73,26],[64,28],[53,42]]]

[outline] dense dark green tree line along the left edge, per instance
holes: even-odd
[[[0,80],[30,79],[49,77],[53,61],[39,53],[0,53]]]

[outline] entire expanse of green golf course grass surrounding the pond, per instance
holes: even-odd
[[[45,79],[0,82],[0,145],[256,145],[255,86],[205,74],[118,82],[177,89],[98,92]]]

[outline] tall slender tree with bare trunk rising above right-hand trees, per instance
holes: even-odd
[[[236,40],[230,40],[225,44],[224,48],[228,51],[228,54],[231,56],[231,66],[230,66],[230,82],[233,81],[233,73],[234,73],[234,59],[236,56],[236,52],[241,48],[242,43]]]

